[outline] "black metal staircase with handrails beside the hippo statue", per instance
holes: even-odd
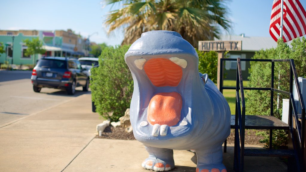
[[[289,160],[288,171],[304,171],[304,141],[305,141],[305,107],[298,83],[297,73],[293,59],[240,59],[237,58],[237,79],[236,87],[223,87],[223,62],[236,61],[236,59],[221,58],[220,61],[220,92],[224,89],[236,90],[236,112],[231,118],[231,128],[235,129],[235,146],[234,146],[234,170],[244,171],[244,156],[273,156],[285,157]],[[269,88],[248,88],[243,86],[241,61],[271,62],[271,87]],[[288,91],[274,88],[274,63],[290,64],[290,89]],[[288,71],[289,72],[289,71]],[[299,103],[301,106],[301,118],[299,121],[297,108],[293,98],[293,82],[295,82]],[[244,90],[266,90],[271,92],[270,116],[263,115],[245,115]],[[274,92],[289,95],[289,124],[273,116],[273,99]],[[246,149],[244,148],[245,129],[268,129],[270,130],[269,149]],[[289,135],[288,149],[272,149],[272,130],[286,130]],[[226,141],[224,144],[226,152]],[[254,162],[256,163],[256,162]]]

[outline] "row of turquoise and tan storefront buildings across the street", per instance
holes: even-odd
[[[23,40],[39,38],[43,42],[45,54],[25,55],[28,48]],[[84,57],[88,56],[86,46],[89,41],[80,35],[67,31],[37,31],[37,30],[0,30],[0,43],[3,44],[5,53],[0,53],[0,63],[15,65],[35,65],[43,56]]]

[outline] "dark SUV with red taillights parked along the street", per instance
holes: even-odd
[[[41,88],[65,89],[73,95],[76,87],[82,86],[83,91],[88,91],[89,76],[82,69],[81,63],[75,58],[44,57],[34,67],[31,76],[34,92]]]

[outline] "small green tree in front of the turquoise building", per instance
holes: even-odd
[[[33,55],[33,64],[35,63],[35,54],[43,54],[46,52],[46,50],[43,49],[43,42],[39,40],[39,38],[32,38],[31,40],[24,39],[22,42],[28,47],[24,54],[26,56]]]

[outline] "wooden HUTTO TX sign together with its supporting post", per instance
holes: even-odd
[[[241,51],[242,41],[199,41],[199,51],[217,51],[217,87],[220,90],[220,59],[224,58],[225,51]]]

